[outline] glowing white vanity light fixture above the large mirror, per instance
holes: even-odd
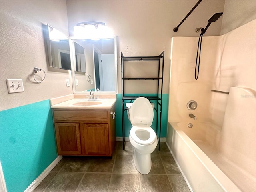
[[[92,40],[99,40],[112,36],[112,31],[104,22],[82,22],[74,26],[74,36]]]

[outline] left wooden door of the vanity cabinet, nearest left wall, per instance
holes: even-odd
[[[59,155],[81,154],[79,123],[55,123]]]

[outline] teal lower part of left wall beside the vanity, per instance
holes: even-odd
[[[57,156],[50,100],[0,112],[0,161],[8,192],[23,192]]]

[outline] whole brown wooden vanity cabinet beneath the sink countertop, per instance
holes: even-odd
[[[112,156],[116,120],[111,109],[53,109],[59,155]]]

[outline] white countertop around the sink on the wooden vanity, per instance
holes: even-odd
[[[116,98],[107,98],[107,99],[99,99],[96,101],[90,101],[90,102],[102,102],[102,104],[98,105],[73,105],[77,102],[87,102],[89,101],[88,98],[86,99],[71,99],[65,102],[61,102],[55,105],[52,105],[52,109],[111,109],[114,104],[116,103]]]

